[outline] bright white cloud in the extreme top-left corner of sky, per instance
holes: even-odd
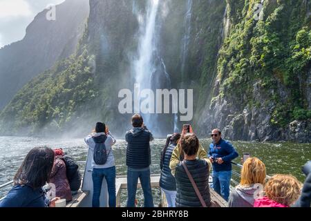
[[[33,12],[25,0],[0,0],[0,19],[30,17]]]

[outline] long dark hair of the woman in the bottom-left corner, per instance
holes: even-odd
[[[51,148],[32,148],[14,177],[15,185],[26,184],[33,189],[44,186],[50,180],[53,164],[54,151]]]

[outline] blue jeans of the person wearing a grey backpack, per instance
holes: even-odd
[[[115,199],[115,166],[104,169],[93,169],[93,207],[100,207],[100,192],[102,190],[102,180],[106,178],[108,195],[109,195],[109,207],[116,206]]]

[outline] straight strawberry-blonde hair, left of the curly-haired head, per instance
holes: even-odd
[[[249,157],[243,164],[240,185],[264,184],[265,164],[257,157]]]

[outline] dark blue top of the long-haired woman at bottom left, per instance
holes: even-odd
[[[0,201],[0,207],[47,207],[48,198],[43,189],[32,189],[27,185],[16,185]]]

